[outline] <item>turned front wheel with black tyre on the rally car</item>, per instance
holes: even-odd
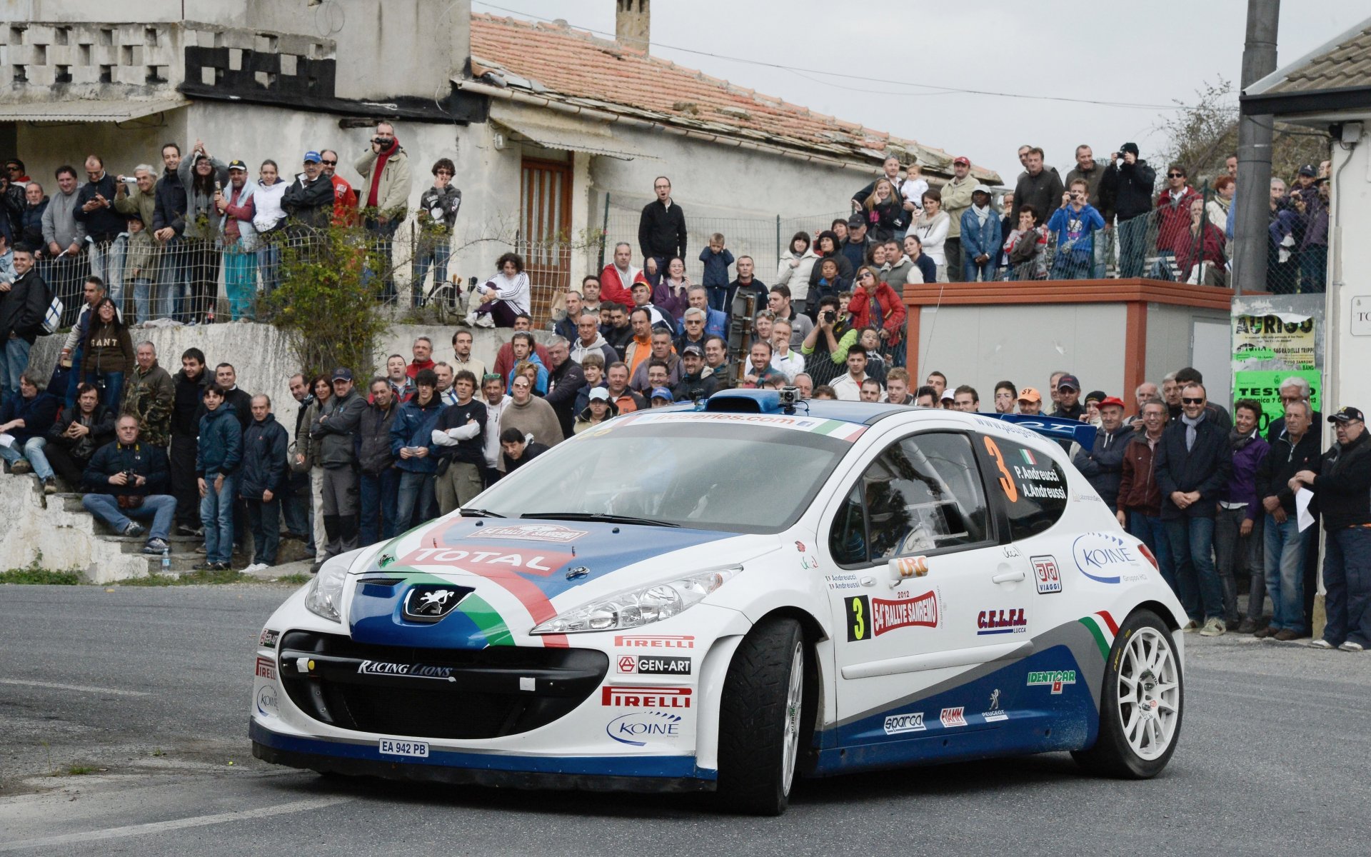
[[[786,812],[809,740],[805,658],[803,633],[791,618],[757,625],[733,653],[718,716],[721,809]]]

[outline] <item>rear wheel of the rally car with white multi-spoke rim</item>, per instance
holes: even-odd
[[[1105,661],[1100,736],[1072,757],[1101,776],[1153,777],[1176,751],[1183,713],[1185,680],[1171,631],[1156,613],[1137,610]]]

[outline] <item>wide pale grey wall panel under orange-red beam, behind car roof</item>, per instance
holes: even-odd
[[[971,384],[991,410],[995,383],[1034,387],[1047,399],[1054,370],[1073,372],[1084,388],[1123,388],[1121,303],[925,307],[919,325],[919,377],[947,376],[949,389]],[[1152,328],[1149,326],[1149,335]],[[1050,402],[1047,402],[1050,406]]]

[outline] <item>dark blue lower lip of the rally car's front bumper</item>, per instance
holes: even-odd
[[[276,765],[422,783],[691,793],[713,791],[717,777],[716,771],[696,768],[694,756],[536,757],[433,749],[428,758],[396,761],[381,756],[376,742],[284,735],[256,719],[248,736],[252,756]]]

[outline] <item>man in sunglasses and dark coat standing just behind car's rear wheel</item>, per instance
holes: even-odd
[[[1233,444],[1227,429],[1205,413],[1206,400],[1200,384],[1189,384],[1180,391],[1185,413],[1161,433],[1156,479],[1161,490],[1161,520],[1176,564],[1176,595],[1190,616],[1186,629],[1204,620],[1202,633],[1217,636],[1227,628],[1223,584],[1213,564],[1213,522],[1219,496],[1233,470]]]

